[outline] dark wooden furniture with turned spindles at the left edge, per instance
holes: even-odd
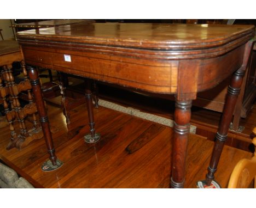
[[[31,95],[31,85],[27,78],[24,61],[18,42],[15,40],[0,41],[0,100],[3,100],[4,112],[10,126],[10,143],[7,149],[19,148],[26,146],[34,139],[43,137],[42,131],[38,126],[36,112],[37,107],[33,102]],[[24,80],[15,83],[11,70],[13,62],[22,62],[22,72]],[[21,91],[27,91],[28,105],[23,108],[20,105],[19,94]],[[9,104],[7,98],[9,97]],[[10,107],[9,107],[10,106]],[[33,128],[27,130],[25,118],[30,114],[33,117]],[[14,121],[18,121],[20,132],[14,129]]]

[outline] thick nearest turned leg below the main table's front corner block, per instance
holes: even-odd
[[[174,136],[172,140],[172,188],[184,187],[185,159],[190,129],[191,105],[191,100],[176,100],[175,103]]]

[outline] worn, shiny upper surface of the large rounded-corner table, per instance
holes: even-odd
[[[223,45],[240,36],[253,36],[248,25],[185,25],[154,23],[84,23],[42,28],[18,33],[18,38],[34,40],[68,39],[88,44],[130,46],[152,49],[191,49]],[[248,38],[247,38],[248,39]]]

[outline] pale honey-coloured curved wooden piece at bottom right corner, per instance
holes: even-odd
[[[253,129],[253,133],[256,134],[256,127]],[[256,137],[253,138],[253,144],[256,147]],[[256,150],[254,151],[254,156],[250,160],[244,158],[236,164],[230,176],[228,188],[248,188],[253,179],[254,188],[256,188],[255,176]]]

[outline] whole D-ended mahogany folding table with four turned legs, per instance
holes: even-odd
[[[197,92],[232,80],[216,136],[207,184],[214,173],[252,50],[254,26],[79,23],[19,32],[50,161],[57,168],[38,73],[41,66],[161,94],[176,94],[171,187],[184,186],[192,100]],[[95,123],[86,87],[91,140]],[[47,163],[49,164],[49,162]]]

